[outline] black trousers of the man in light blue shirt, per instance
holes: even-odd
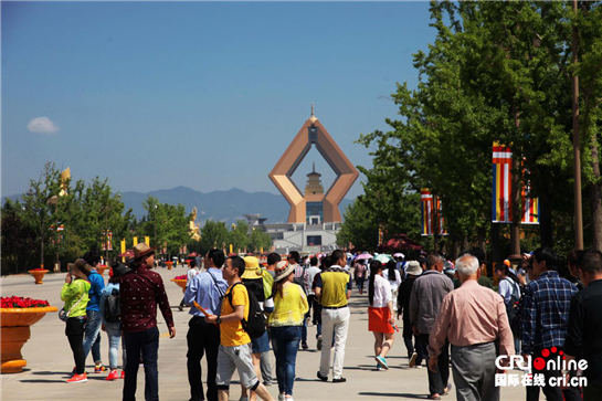
[[[207,399],[218,401],[215,374],[218,372],[218,351],[220,348],[220,329],[208,324],[203,318],[194,316],[188,323],[187,368],[190,384],[190,400],[204,400],[201,359],[207,353]]]

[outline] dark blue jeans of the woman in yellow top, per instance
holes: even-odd
[[[272,347],[276,356],[276,378],[278,379],[279,393],[293,395],[300,331],[300,326],[272,327]]]

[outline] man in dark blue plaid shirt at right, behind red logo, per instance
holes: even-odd
[[[567,328],[569,325],[569,310],[571,298],[577,293],[577,287],[558,275],[558,256],[550,247],[540,247],[534,252],[532,281],[525,288],[522,303],[522,357],[525,360],[531,356],[531,370],[535,374],[543,374],[546,379],[542,386],[548,401],[581,400],[581,394],[575,388],[561,391],[560,388],[549,386],[551,377],[560,376],[560,367],[548,369],[548,359],[556,360],[562,355]],[[543,358],[546,366],[542,369],[534,369],[532,361]],[[527,387],[527,401],[539,400],[539,387]]]

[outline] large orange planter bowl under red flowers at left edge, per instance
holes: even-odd
[[[40,282],[40,284],[42,284]],[[30,339],[30,326],[41,320],[47,313],[57,312],[54,306],[36,308],[0,308],[1,321],[1,373],[23,371],[28,361],[21,355],[21,348]]]

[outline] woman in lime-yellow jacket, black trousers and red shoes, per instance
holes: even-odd
[[[64,310],[67,315],[65,335],[67,336],[75,372],[67,383],[82,383],[87,381],[84,353],[84,326],[86,324],[86,306],[89,300],[89,282],[87,277],[92,267],[83,258],[67,265],[70,273],[65,276],[65,284],[61,291],[61,299],[65,302]]]

